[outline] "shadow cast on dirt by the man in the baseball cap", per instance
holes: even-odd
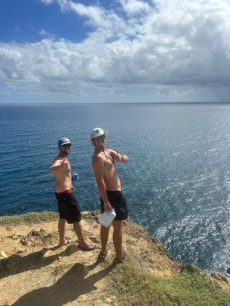
[[[60,249],[60,252],[52,254],[57,249]],[[49,255],[49,251],[52,255]],[[52,248],[43,248],[40,251],[25,256],[13,254],[8,258],[0,260],[0,278],[48,266],[57,260],[58,257],[68,257],[77,251],[81,251],[78,246],[76,244],[70,244],[66,249],[55,246]],[[48,255],[46,256],[46,254]]]

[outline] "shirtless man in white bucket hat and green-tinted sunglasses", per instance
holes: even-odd
[[[128,218],[126,200],[121,192],[121,181],[114,168],[114,161],[128,162],[128,157],[113,150],[105,149],[105,134],[101,128],[93,129],[89,139],[94,146],[92,156],[92,167],[101,195],[101,213],[111,211],[115,208],[116,217],[113,220],[113,244],[116,257],[113,263],[119,263],[125,258],[125,251],[122,251],[122,226],[123,221]],[[109,238],[109,227],[101,226],[102,249],[99,257],[103,260],[108,254],[107,242]]]

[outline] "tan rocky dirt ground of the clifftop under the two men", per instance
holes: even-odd
[[[109,275],[116,269],[113,228],[108,256],[102,261],[98,259],[99,215],[99,211],[82,213],[84,236],[97,244],[90,252],[78,248],[73,226],[69,224],[65,236],[71,242],[60,248],[57,221],[0,226],[0,305],[117,306],[116,298],[107,293]],[[129,219],[124,221],[123,249],[157,275],[168,277],[182,269],[182,264],[170,256],[163,244]]]

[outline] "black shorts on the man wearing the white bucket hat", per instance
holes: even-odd
[[[106,192],[109,198],[110,205],[115,208],[116,217],[114,218],[114,221],[128,219],[128,208],[123,193],[117,190],[114,191],[106,190]],[[102,200],[101,197],[101,213],[103,214],[103,212],[105,212],[104,201]]]

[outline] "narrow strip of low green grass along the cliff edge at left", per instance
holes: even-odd
[[[10,226],[19,224],[40,223],[41,221],[54,221],[59,218],[59,214],[54,211],[29,212],[23,215],[0,217],[0,226]]]

